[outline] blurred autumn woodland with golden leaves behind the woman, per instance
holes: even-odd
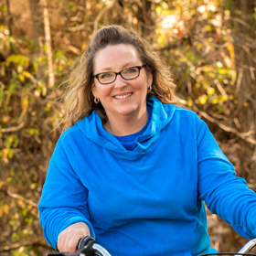
[[[60,84],[93,30],[112,24],[165,59],[178,96],[256,190],[256,1],[0,0],[0,255],[52,251],[37,203],[61,133]],[[208,229],[219,251],[247,241],[209,212]]]

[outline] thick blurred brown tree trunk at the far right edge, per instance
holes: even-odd
[[[249,133],[251,138],[256,139],[256,21],[254,17],[255,1],[233,0],[235,6],[231,11],[235,35],[235,65],[237,69],[238,112],[240,132]],[[240,12],[238,12],[238,10]],[[251,148],[250,160],[248,161],[251,178],[256,176],[256,148]]]

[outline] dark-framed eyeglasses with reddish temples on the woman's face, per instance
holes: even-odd
[[[114,82],[116,80],[117,75],[121,75],[121,77],[124,80],[133,80],[139,77],[140,70],[143,69],[145,66],[146,65],[126,68],[121,70],[120,72],[103,72],[96,75],[92,75],[91,77],[99,80],[101,84],[108,84]]]

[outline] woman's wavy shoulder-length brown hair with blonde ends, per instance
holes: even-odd
[[[92,94],[94,59],[96,53],[107,46],[118,44],[132,45],[136,48],[138,57],[145,64],[146,72],[153,76],[152,91],[147,95],[154,95],[165,104],[178,104],[175,89],[165,62],[150,50],[146,41],[133,30],[122,26],[107,26],[96,30],[87,50],[76,61],[75,68],[71,71],[69,85],[64,95],[64,127],[63,131],[80,121],[91,112],[98,111],[102,122],[106,122],[107,116],[101,102],[96,104]]]

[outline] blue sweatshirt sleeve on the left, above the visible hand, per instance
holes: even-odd
[[[85,222],[95,238],[87,207],[88,189],[75,172],[75,155],[61,138],[48,167],[38,204],[40,224],[48,243],[56,248],[59,233],[76,222]]]

